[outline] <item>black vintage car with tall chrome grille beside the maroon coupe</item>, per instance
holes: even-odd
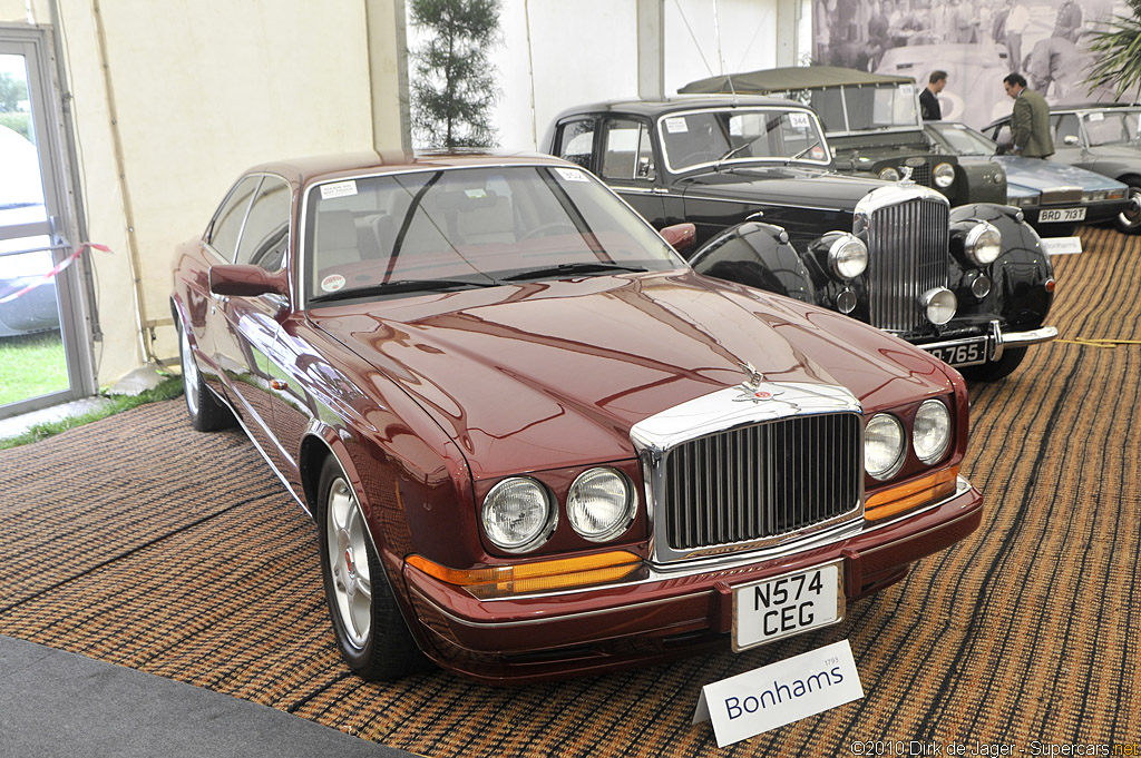
[[[848,313],[974,378],[1012,372],[1045,326],[1053,269],[1022,213],[952,209],[905,180],[841,176],[816,114],[751,97],[612,101],[564,112],[543,147],[606,181],[710,276]]]

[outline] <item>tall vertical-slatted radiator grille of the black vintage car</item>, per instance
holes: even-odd
[[[926,324],[920,298],[947,286],[948,217],[946,202],[929,198],[873,212],[867,238],[872,326],[912,332]]]

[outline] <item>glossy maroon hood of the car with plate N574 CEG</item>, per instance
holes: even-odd
[[[636,455],[630,427],[741,384],[841,384],[865,409],[950,391],[946,369],[858,321],[689,270],[309,312],[399,384],[477,479]]]

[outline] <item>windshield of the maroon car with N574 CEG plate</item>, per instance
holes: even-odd
[[[547,165],[316,185],[305,248],[310,302],[685,266],[593,177]]]

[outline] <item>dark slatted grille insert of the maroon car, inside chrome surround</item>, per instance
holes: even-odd
[[[665,460],[674,551],[779,538],[859,506],[858,414],[792,416],[683,442]]]

